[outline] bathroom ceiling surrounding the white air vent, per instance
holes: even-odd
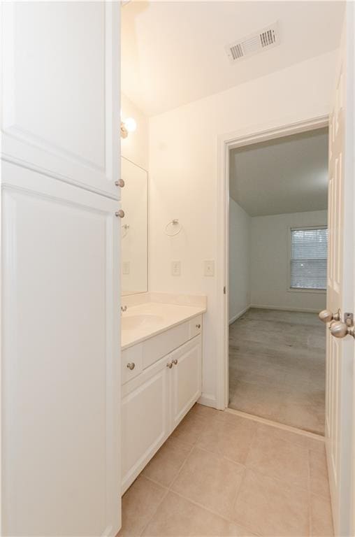
[[[338,48],[342,1],[131,1],[122,92],[156,115]],[[224,47],[279,22],[280,45],[229,62]]]

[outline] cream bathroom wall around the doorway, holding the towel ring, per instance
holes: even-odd
[[[204,324],[203,399],[216,404],[217,278],[203,260],[217,258],[217,141],[233,131],[256,131],[328,113],[336,52],[189,103],[150,119],[150,289],[208,295]],[[198,69],[198,68],[196,68]],[[164,234],[169,220],[183,227]],[[171,261],[182,263],[171,275]]]

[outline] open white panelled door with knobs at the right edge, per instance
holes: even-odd
[[[329,124],[328,292],[334,314],[354,313],[354,67],[353,6],[347,3]],[[331,326],[329,326],[331,328]],[[335,535],[353,535],[352,398],[354,338],[327,331],[326,448]]]

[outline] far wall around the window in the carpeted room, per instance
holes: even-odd
[[[326,214],[315,210],[252,218],[252,306],[316,311],[326,307],[326,292],[289,291],[289,228],[325,226]]]

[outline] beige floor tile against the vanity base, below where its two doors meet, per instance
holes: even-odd
[[[150,463],[145,466],[143,475],[164,487],[170,487],[189,452],[191,452],[190,445],[184,444],[177,438],[168,438]]]

